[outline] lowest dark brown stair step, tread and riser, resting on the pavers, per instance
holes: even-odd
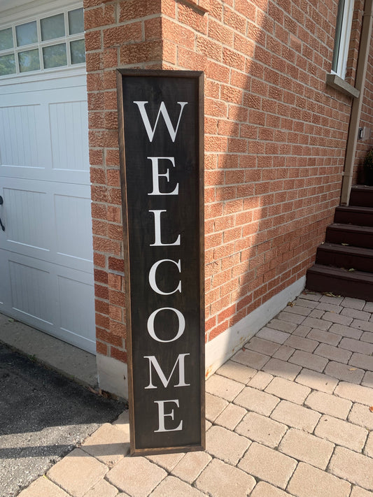
[[[373,274],[314,264],[307,271],[306,288],[321,292],[330,291],[336,295],[372,301]]]

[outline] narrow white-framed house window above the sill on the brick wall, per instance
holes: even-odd
[[[347,59],[349,57],[353,3],[353,0],[339,0],[338,4],[332,73],[337,74],[342,79],[346,76]]]

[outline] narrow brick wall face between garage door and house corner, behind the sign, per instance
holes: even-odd
[[[127,355],[115,70],[162,66],[160,4],[84,2],[97,352],[120,361]]]

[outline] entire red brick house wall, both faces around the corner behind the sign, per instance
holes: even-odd
[[[125,360],[115,68],[205,72],[211,340],[304,276],[339,203],[336,16],[337,0],[85,1],[98,352]]]

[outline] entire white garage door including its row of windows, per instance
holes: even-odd
[[[0,27],[0,312],[95,353],[82,14]]]

